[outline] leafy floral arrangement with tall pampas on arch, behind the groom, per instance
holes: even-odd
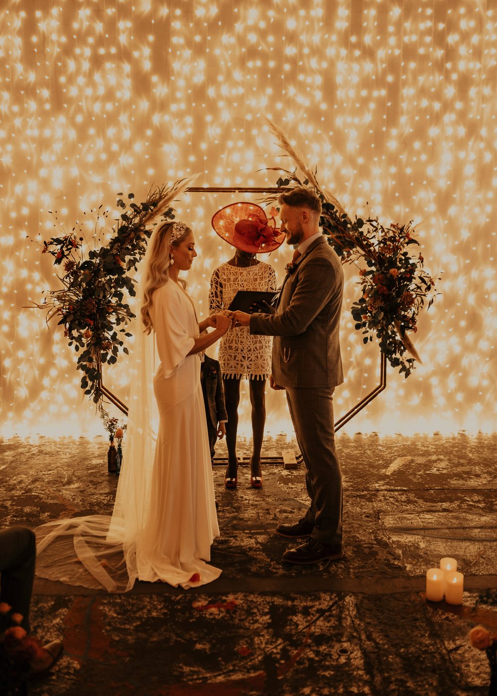
[[[322,189],[316,172],[290,144],[281,128],[269,119],[267,123],[280,147],[306,175],[301,181],[295,172],[270,167],[272,171],[283,172],[276,186],[291,184],[313,189],[321,199],[319,226],[327,235],[329,244],[342,263],[352,262],[359,269],[361,296],[352,305],[355,328],[363,332],[364,343],[372,341],[376,335],[380,350],[390,365],[398,367],[404,377],[409,377],[420,357],[407,332],[416,333],[421,308],[425,303],[429,308],[436,294],[433,278],[423,269],[423,255],[411,255],[411,245],[419,245],[413,237],[411,222],[383,226],[377,218],[352,221],[339,201]],[[273,202],[274,197],[266,200]],[[287,273],[294,269],[295,264],[287,264]]]

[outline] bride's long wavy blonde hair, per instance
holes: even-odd
[[[191,234],[191,229],[186,227],[181,237],[177,237],[171,244],[171,232],[176,221],[166,222],[162,225],[157,234],[151,239],[152,248],[150,249],[150,262],[148,264],[145,286],[143,290],[143,304],[141,306],[141,321],[145,326],[145,333],[152,331],[152,319],[150,318],[149,308],[152,303],[152,294],[158,287],[166,285],[169,280],[169,246],[178,246],[183,239]],[[187,287],[185,280],[179,281],[183,287]]]

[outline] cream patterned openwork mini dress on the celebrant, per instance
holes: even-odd
[[[260,261],[246,268],[223,263],[212,274],[209,292],[210,314],[228,309],[238,290],[276,292],[274,268]],[[219,342],[219,364],[223,377],[269,379],[271,336],[251,335],[248,326],[237,326]]]

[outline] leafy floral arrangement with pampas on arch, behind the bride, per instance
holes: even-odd
[[[129,271],[136,271],[145,254],[152,223],[159,218],[174,219],[171,203],[193,179],[150,189],[143,203],[135,203],[133,193],[128,194],[127,200],[118,198],[122,212],[108,240],[109,212],[102,212],[102,206],[96,211],[91,244],[81,224],[65,232],[54,214],[55,226],[63,234],[43,242],[42,253],[51,254],[54,265],[63,268],[63,276],[58,276],[63,287],[50,291],[49,298],[36,307],[48,310],[47,322],[60,317],[58,324],[64,326],[69,345],[79,353],[81,388],[95,404],[101,405],[103,399],[102,363],[116,363],[120,349],[128,352],[123,337],[131,336],[125,326],[134,314],[125,301],[125,293],[135,295]]]

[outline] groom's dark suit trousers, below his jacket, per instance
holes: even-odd
[[[287,387],[297,443],[306,464],[310,507],[302,518],[314,525],[313,539],[342,543],[342,473],[333,431],[333,387]]]

